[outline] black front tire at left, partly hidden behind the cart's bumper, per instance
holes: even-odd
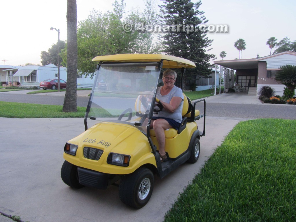
[[[83,187],[83,185],[79,183],[77,166],[67,162],[66,160],[62,165],[61,177],[64,183],[70,187],[76,189]]]

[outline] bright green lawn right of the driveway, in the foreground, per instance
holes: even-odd
[[[240,122],[165,221],[295,221],[295,135],[296,120]]]

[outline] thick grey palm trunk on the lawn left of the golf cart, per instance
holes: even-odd
[[[77,112],[77,4],[67,0],[67,88],[63,111]]]

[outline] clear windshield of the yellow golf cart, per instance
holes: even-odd
[[[158,66],[157,62],[100,65],[86,118],[141,126],[155,97]]]

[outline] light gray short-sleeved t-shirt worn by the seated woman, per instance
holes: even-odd
[[[170,103],[170,100],[173,97],[181,97],[182,101],[179,105],[179,107],[175,110],[175,112],[171,113],[171,112],[167,112],[164,109],[159,112],[159,114],[154,114],[153,116],[155,117],[166,117],[166,118],[170,118],[173,120],[176,120],[176,122],[181,123],[182,122],[182,109],[183,109],[183,101],[184,101],[184,96],[183,96],[183,92],[180,88],[178,88],[177,86],[174,86],[173,89],[171,89],[171,91],[163,96],[160,94],[160,89],[163,86],[160,86],[157,88],[156,91],[156,98],[159,99],[160,101],[166,102],[166,103]]]

